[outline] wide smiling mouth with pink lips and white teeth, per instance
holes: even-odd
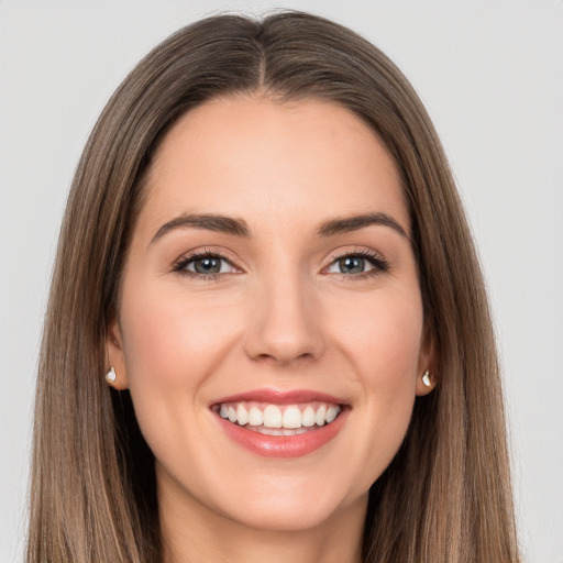
[[[350,406],[310,391],[257,390],[210,406],[227,435],[263,456],[296,457],[331,441]]]

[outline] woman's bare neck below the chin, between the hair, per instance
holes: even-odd
[[[161,500],[164,563],[360,563],[366,505],[361,498],[309,529],[268,530]]]

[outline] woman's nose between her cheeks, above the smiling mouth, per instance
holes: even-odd
[[[244,343],[251,358],[287,365],[323,354],[321,307],[312,286],[287,272],[261,285],[250,305]]]

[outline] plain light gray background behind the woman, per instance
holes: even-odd
[[[380,46],[427,104],[481,249],[527,561],[563,562],[563,2],[0,0],[0,562],[20,561],[42,314],[66,192],[104,102],[184,24],[273,7]]]

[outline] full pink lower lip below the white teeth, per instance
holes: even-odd
[[[330,424],[295,435],[261,434],[233,424],[219,415],[217,418],[229,438],[251,452],[265,457],[300,457],[330,442],[342,430],[349,412],[344,409]]]

